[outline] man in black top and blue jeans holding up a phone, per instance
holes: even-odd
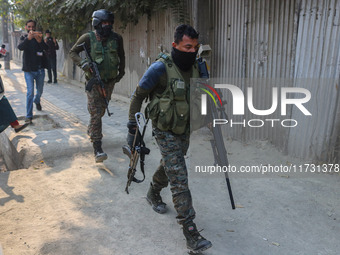
[[[18,49],[23,51],[22,70],[25,72],[27,85],[26,95],[26,122],[32,123],[33,102],[37,110],[41,111],[40,97],[43,93],[45,70],[44,50],[48,49],[47,44],[42,39],[42,32],[36,30],[36,21],[26,22],[27,34],[20,37]],[[37,93],[34,97],[34,80],[36,82]]]

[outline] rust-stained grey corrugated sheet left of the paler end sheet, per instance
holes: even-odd
[[[275,85],[273,81],[259,78],[289,78],[294,34],[294,5],[289,2],[211,1],[215,12],[212,16],[216,17],[213,25],[213,76],[231,79],[230,82],[233,78],[247,78],[237,85],[244,92],[246,87],[253,87],[254,107],[257,109],[270,108],[271,87]],[[231,101],[230,97],[227,98]],[[248,113],[245,119],[255,117]],[[286,132],[270,126],[229,131],[232,136],[243,140],[269,138],[280,144],[284,143],[281,137]]]

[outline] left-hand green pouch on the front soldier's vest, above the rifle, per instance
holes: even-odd
[[[162,131],[168,131],[171,129],[174,115],[170,98],[160,98],[158,106],[157,128]]]

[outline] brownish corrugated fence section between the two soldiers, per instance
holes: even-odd
[[[147,67],[155,61],[161,51],[170,52],[173,33],[178,23],[172,17],[172,11],[156,13],[151,20],[142,18],[137,25],[129,25],[125,30],[116,31],[124,38],[126,56],[126,75],[115,91],[124,96],[130,96],[136,89]]]

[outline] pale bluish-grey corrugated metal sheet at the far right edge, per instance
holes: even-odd
[[[332,160],[339,136],[340,1],[301,1],[295,78],[312,94],[311,119],[291,130],[289,152]],[[313,78],[313,79],[311,79]],[[319,79],[321,78],[321,79]],[[294,109],[292,117],[299,113]]]

